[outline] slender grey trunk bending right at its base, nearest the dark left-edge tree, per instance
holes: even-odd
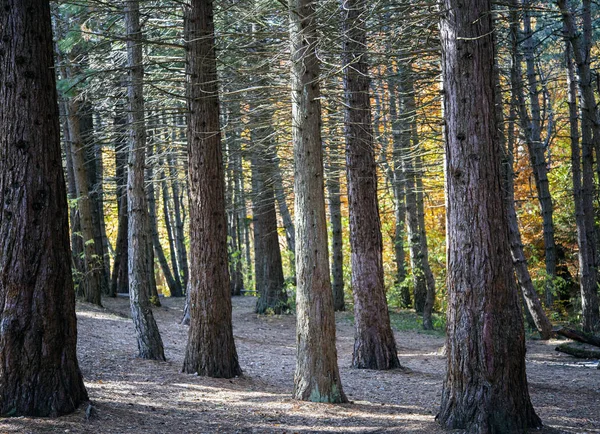
[[[151,262],[152,240],[148,218],[148,201],[144,192],[146,164],[146,126],[144,122],[144,68],[142,64],[142,30],[137,0],[125,3],[127,31],[127,66],[129,68],[129,170],[127,174],[127,211],[129,238],[129,298],[135,326],[139,356],[165,360],[162,339],[152,315],[149,288],[155,285]]]

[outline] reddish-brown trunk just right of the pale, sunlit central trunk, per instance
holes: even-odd
[[[383,241],[366,61],[365,0],[342,0],[346,174],[352,247],[352,366],[400,367],[383,283]]]

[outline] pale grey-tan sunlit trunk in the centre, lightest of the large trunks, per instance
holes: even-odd
[[[321,148],[316,2],[290,0],[296,215],[296,399],[347,402],[337,365]]]

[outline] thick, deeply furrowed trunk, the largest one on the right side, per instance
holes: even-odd
[[[473,433],[541,426],[525,373],[494,113],[490,0],[444,0],[447,371],[437,420]]]

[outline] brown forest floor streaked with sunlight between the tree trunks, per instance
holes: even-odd
[[[233,299],[234,335],[244,375],[231,380],[180,372],[187,327],[182,299],[154,311],[167,362],[136,358],[128,299],[105,308],[77,305],[79,363],[95,411],[58,419],[0,420],[0,433],[438,433],[434,420],[444,378],[444,338],[396,331],[405,369],[351,369],[350,313],[338,313],[337,347],[351,403],[291,399],[295,317],[258,317],[253,297]],[[527,342],[531,398],[544,433],[600,433],[600,370],[554,351],[557,341]],[[538,431],[539,432],[539,431]]]

